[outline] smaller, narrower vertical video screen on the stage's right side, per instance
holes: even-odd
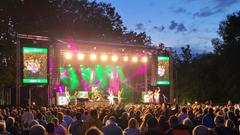
[[[157,84],[170,85],[169,81],[169,60],[168,56],[158,56]]]

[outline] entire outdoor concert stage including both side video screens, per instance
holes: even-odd
[[[84,98],[91,100],[94,91],[107,99],[110,92],[117,97],[120,90],[126,102],[141,102],[143,94],[152,86],[167,86],[165,91],[170,89],[169,57],[156,47],[72,40],[50,43],[45,38],[44,41],[34,40],[35,44],[38,42],[38,46],[19,45],[20,51],[23,50],[19,66],[23,69],[23,76],[18,79],[22,80],[21,89],[25,89],[16,91],[20,104],[27,100],[29,104],[47,101],[48,105],[57,105],[60,98],[73,100],[76,96],[82,98],[84,93],[88,93]],[[47,91],[41,92],[33,90],[46,88]],[[18,94],[22,96],[19,98]]]

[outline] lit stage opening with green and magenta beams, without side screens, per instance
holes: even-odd
[[[68,45],[59,51],[60,81],[55,90],[67,91],[70,99],[76,92],[79,98],[87,92],[85,95],[91,100],[94,91],[107,99],[110,92],[118,96],[122,90],[122,98],[135,101],[141,98],[142,91],[148,90],[152,56],[147,49]]]

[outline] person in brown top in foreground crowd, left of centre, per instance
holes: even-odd
[[[92,126],[96,126],[99,129],[103,126],[102,122],[98,119],[98,112],[96,109],[90,111],[87,120],[83,123],[82,135]]]

